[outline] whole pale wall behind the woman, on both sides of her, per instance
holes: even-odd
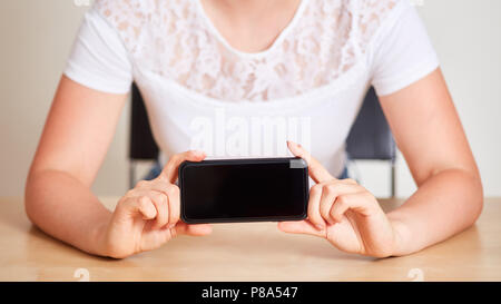
[[[22,196],[29,164],[87,0],[0,2],[0,196]],[[501,196],[501,1],[414,0],[482,174],[487,196]],[[98,195],[127,189],[128,108],[94,185]],[[397,195],[414,183],[397,160]],[[386,164],[358,161],[376,196],[390,188]],[[385,178],[387,176],[389,178]],[[383,178],[382,178],[383,177]]]

